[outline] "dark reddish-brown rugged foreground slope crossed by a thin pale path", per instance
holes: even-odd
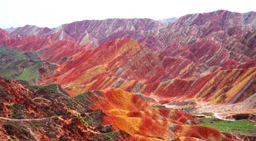
[[[101,126],[102,111],[88,108],[60,89],[57,84],[24,87],[0,78],[1,140],[133,140],[124,131]],[[90,97],[88,97],[89,99]],[[85,120],[85,113],[95,115]],[[97,123],[92,124],[96,120]],[[90,126],[89,126],[90,122]]]

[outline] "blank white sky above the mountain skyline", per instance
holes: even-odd
[[[84,19],[180,17],[228,10],[256,11],[254,0],[2,0],[0,28],[36,25],[58,27]]]

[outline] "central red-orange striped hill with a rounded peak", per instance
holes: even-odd
[[[164,58],[164,56],[141,46],[134,39],[120,38],[107,42],[94,50],[83,51],[83,53],[75,55],[69,63],[59,66],[58,73],[53,73],[53,77],[50,79],[55,79],[54,81],[65,86],[81,84],[81,86],[75,85],[74,90],[71,90],[77,91],[76,93],[87,89],[109,87],[120,87],[127,91],[139,92],[143,83],[156,76],[162,77],[160,80],[166,79],[167,68],[176,66],[168,63],[176,61],[183,62],[184,58]],[[189,63],[192,64],[189,69],[191,72],[184,74],[184,77],[200,72],[200,69],[193,67],[193,63],[189,61],[179,71]],[[174,74],[173,77],[178,74]],[[67,86],[72,88],[72,85]],[[138,88],[135,90],[136,87]]]

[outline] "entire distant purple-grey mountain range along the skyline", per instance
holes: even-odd
[[[139,43],[158,50],[177,40],[184,46],[187,43],[195,42],[199,38],[209,39],[216,36],[213,40],[217,42],[221,42],[219,36],[228,38],[228,36],[236,35],[234,38],[237,38],[238,33],[244,34],[247,31],[254,31],[254,16],[255,12],[236,13],[218,10],[204,14],[185,15],[167,25],[147,18],[116,18],[100,21],[79,21],[64,24],[54,29],[27,25],[17,28],[11,34],[13,36],[50,35],[53,40],[69,39],[80,45],[87,43],[95,47],[116,38],[127,37],[134,38]],[[183,23],[184,21],[186,21],[186,24]],[[193,30],[188,30],[188,28],[193,28]],[[220,33],[220,31],[224,31],[225,34]],[[212,33],[212,35],[208,35],[209,33]],[[179,38],[183,41],[180,41]]]

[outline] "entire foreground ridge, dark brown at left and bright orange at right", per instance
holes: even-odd
[[[70,97],[57,84],[27,88],[0,77],[0,86],[3,140],[232,140],[215,129],[184,125],[194,117],[154,108],[121,89]]]

